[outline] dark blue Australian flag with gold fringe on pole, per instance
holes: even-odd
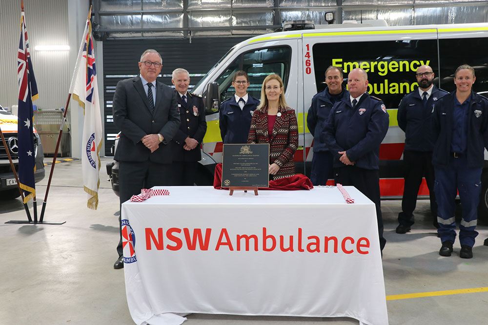
[[[34,146],[34,128],[32,126],[32,101],[39,95],[36,79],[32,69],[25,26],[25,14],[22,9],[20,17],[20,43],[17,57],[17,79],[19,81],[19,181],[24,191],[24,203],[36,196],[36,148]]]

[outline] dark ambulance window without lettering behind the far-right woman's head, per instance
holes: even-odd
[[[454,72],[460,65],[469,64],[476,75],[473,91],[488,97],[488,52],[480,51],[486,43],[487,38],[439,39],[442,89],[448,92],[455,90]]]

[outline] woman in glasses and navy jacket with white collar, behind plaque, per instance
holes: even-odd
[[[247,94],[249,78],[244,71],[234,74],[232,86],[236,90],[235,95],[224,100],[220,109],[220,135],[224,143],[247,143],[252,113],[259,100]]]

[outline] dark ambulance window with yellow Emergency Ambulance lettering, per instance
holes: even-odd
[[[420,65],[430,65],[436,76],[439,73],[435,39],[317,43],[312,54],[317,92],[325,88],[328,66],[343,70],[344,86],[348,73],[360,67],[368,74],[369,94],[382,99],[387,108],[398,108],[402,97],[417,89],[415,71]],[[439,78],[434,82],[438,84]]]

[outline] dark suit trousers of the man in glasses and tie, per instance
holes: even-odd
[[[141,189],[150,189],[153,186],[168,186],[171,175],[171,164],[158,164],[149,160],[143,162],[119,162],[119,232],[120,241],[117,245],[119,257],[123,255],[122,247],[122,203],[129,200],[132,195],[141,194]]]

